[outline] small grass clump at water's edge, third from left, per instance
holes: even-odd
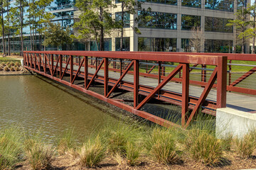
[[[76,139],[74,135],[74,130],[65,130],[63,135],[58,137],[58,140],[56,141],[57,145],[57,152],[60,155],[65,154],[70,149],[74,149],[76,146]]]

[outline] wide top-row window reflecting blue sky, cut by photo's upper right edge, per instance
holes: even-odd
[[[206,9],[233,12],[234,0],[206,0],[205,6]]]

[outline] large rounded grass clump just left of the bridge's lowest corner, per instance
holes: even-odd
[[[172,164],[177,161],[176,137],[171,130],[156,127],[144,143],[149,156],[160,164]]]

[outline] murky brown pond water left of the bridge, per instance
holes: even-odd
[[[36,76],[1,76],[0,128],[19,125],[30,133],[41,130],[49,140],[74,128],[81,139],[114,119],[101,106],[93,106],[90,98],[52,84]]]

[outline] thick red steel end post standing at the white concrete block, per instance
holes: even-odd
[[[228,57],[218,57],[217,108],[226,107]]]

